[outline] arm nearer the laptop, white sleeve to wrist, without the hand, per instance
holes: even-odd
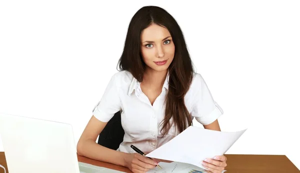
[[[120,110],[118,78],[117,75],[111,77],[100,102],[93,109],[93,116],[77,143],[77,154],[93,160],[125,166],[124,159],[128,154],[108,149],[95,142],[113,114]]]

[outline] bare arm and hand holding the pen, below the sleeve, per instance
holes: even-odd
[[[158,164],[140,154],[124,153],[108,149],[97,144],[96,138],[102,132],[107,123],[99,121],[94,116],[86,125],[77,144],[77,154],[93,160],[98,160],[114,165],[129,168],[133,173],[144,173],[155,168]]]

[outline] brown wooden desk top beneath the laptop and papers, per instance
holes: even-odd
[[[225,173],[300,173],[284,155],[225,155],[227,167]],[[131,173],[127,168],[77,156],[79,162],[106,167],[113,170]],[[0,152],[0,164],[5,168],[5,156]],[[0,170],[3,173],[3,169]],[[8,173],[8,172],[6,172]]]

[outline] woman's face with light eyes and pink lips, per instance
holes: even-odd
[[[174,58],[175,46],[169,31],[151,24],[141,32],[141,55],[146,68],[164,71]]]

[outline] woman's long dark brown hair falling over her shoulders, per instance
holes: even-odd
[[[172,123],[175,124],[177,132],[181,133],[192,124],[191,116],[184,104],[184,96],[192,81],[193,67],[183,33],[166,10],[158,6],[144,6],[133,15],[128,26],[124,49],[118,61],[119,71],[127,70],[137,81],[142,82],[145,63],[140,52],[140,34],[152,23],[167,28],[175,45],[174,58],[168,67],[165,117],[160,124],[162,134],[166,135]]]

